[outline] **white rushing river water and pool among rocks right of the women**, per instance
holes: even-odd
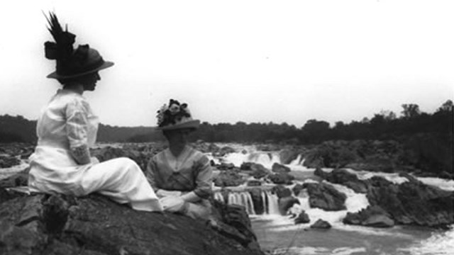
[[[221,145],[225,146],[225,145]],[[237,149],[238,153],[227,154],[216,162],[233,163],[240,166],[243,162],[262,164],[268,169],[272,164],[280,163],[278,152],[260,152],[253,146],[228,145]],[[245,151],[246,152],[245,152]],[[314,169],[302,166],[304,159],[298,157],[290,164],[291,174],[297,176],[297,183],[314,182]],[[331,171],[332,169],[323,169]],[[371,173],[367,171],[351,171],[360,179],[372,176],[382,176],[394,183],[407,181],[398,174]],[[418,178],[428,185],[438,186],[448,191],[454,191],[454,181],[437,178]],[[454,254],[454,225],[450,230],[436,230],[426,227],[395,226],[392,228],[372,228],[344,225],[343,217],[347,212],[358,212],[369,204],[365,194],[355,193],[350,188],[333,184],[338,191],[345,193],[346,210],[328,212],[309,206],[309,196],[303,190],[298,199],[300,205],[294,205],[291,211],[298,213],[305,210],[311,222],[294,224],[292,216],[279,214],[277,196],[270,191],[262,191],[265,212],[256,215],[252,198],[245,187],[233,188],[225,201],[220,193],[215,193],[215,199],[224,203],[244,205],[248,211],[253,229],[258,237],[260,246],[270,254],[396,254],[396,255],[432,255]],[[292,188],[292,186],[289,186]],[[325,220],[332,225],[331,229],[311,229],[316,220]]]

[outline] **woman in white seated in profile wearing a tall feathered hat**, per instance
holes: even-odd
[[[50,13],[50,33],[55,42],[45,42],[45,56],[57,61],[55,72],[62,89],[52,96],[38,118],[38,145],[30,157],[28,186],[31,191],[84,196],[101,193],[135,210],[162,211],[153,188],[140,167],[128,158],[106,162],[90,157],[96,141],[98,118],[84,91],[94,91],[99,70],[114,63],[104,61],[89,45],[73,49],[75,35],[63,31]]]

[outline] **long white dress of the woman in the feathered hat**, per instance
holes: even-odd
[[[97,192],[135,210],[161,211],[143,171],[126,157],[78,164],[74,153],[89,154],[96,141],[98,118],[86,99],[60,89],[40,113],[38,145],[30,157],[31,191],[84,196]]]

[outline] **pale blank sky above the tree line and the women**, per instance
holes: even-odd
[[[154,126],[170,98],[209,123],[350,123],[454,99],[454,1],[0,1],[0,115],[35,120],[55,11],[114,67],[84,96],[101,123]]]

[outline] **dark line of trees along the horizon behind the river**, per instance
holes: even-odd
[[[423,113],[414,103],[403,104],[402,114],[381,111],[372,118],[351,123],[308,120],[301,128],[287,123],[201,123],[190,140],[205,142],[279,142],[295,145],[318,144],[327,140],[389,140],[402,135],[436,133],[453,137],[453,101],[443,103],[435,113]],[[0,142],[36,142],[36,121],[21,115],[0,116]],[[100,125],[99,142],[155,142],[164,140],[152,127],[117,127]]]

